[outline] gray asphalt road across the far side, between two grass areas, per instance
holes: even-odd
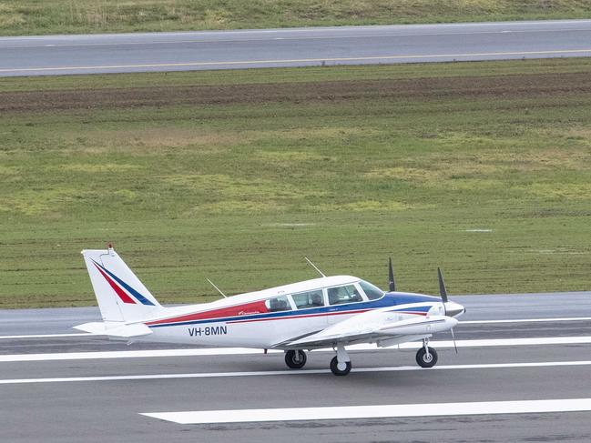
[[[591,55],[591,20],[0,38],[0,76]]]

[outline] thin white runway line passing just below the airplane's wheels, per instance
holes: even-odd
[[[591,366],[591,360],[580,361],[542,361],[527,363],[491,363],[480,365],[440,365],[431,368],[418,366],[399,367],[353,367],[352,373],[357,372],[407,372],[407,371],[434,371],[434,370],[462,370],[462,369],[503,369],[520,367],[564,367],[564,366]],[[242,371],[242,372],[195,372],[190,374],[145,374],[128,376],[101,376],[101,377],[58,377],[58,378],[7,378],[0,380],[0,385],[24,385],[29,383],[72,383],[76,381],[120,381],[120,380],[161,380],[176,378],[223,378],[223,377],[265,377],[265,376],[302,376],[313,374],[330,374],[329,369],[303,369],[303,370],[275,370],[275,371]]]

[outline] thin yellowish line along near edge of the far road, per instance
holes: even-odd
[[[508,51],[508,52],[487,52],[487,53],[464,53],[464,54],[425,54],[425,55],[376,55],[365,57],[320,57],[320,58],[292,58],[276,60],[229,60],[219,62],[185,62],[185,63],[148,63],[137,65],[90,65],[90,66],[54,66],[54,67],[14,67],[0,69],[0,73],[16,72],[48,72],[48,71],[89,71],[96,69],[137,69],[148,67],[189,67],[189,66],[238,66],[238,65],[275,65],[294,63],[322,63],[322,62],[363,62],[363,61],[385,61],[385,60],[415,60],[421,58],[460,58],[460,57],[484,57],[484,56],[526,56],[526,55],[560,55],[591,53],[591,48],[563,49],[548,51]]]

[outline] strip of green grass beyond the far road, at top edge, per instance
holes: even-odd
[[[0,35],[588,18],[586,0],[4,0]]]

